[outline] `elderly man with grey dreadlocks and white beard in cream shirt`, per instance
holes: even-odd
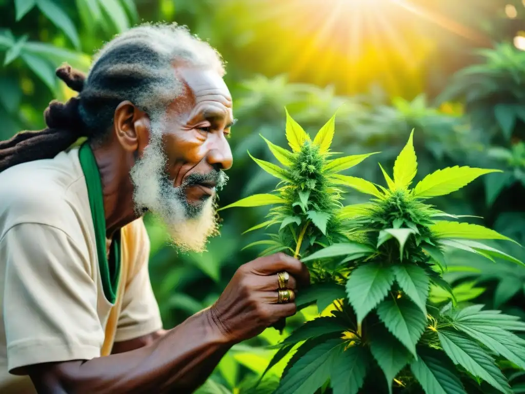
[[[79,95],[50,104],[45,130],[0,142],[0,392],[190,393],[232,345],[295,314],[308,271],[282,254],[239,264],[172,329],[152,293],[145,212],[182,250],[217,232],[232,166],[223,74],[186,29],[138,26],[86,78],[57,71]]]

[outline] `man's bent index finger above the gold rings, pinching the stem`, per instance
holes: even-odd
[[[284,253],[275,253],[270,256],[259,257],[252,261],[250,268],[259,275],[273,275],[279,271],[287,271],[297,279],[297,284],[310,284],[310,273],[302,262]]]

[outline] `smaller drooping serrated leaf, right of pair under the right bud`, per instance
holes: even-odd
[[[395,265],[393,270],[397,283],[426,316],[430,281],[425,270],[413,264]]]

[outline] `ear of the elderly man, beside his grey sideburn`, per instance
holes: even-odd
[[[113,129],[125,151],[141,155],[150,138],[150,118],[131,101],[122,101],[115,109]]]

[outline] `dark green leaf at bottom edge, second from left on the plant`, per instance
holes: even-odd
[[[369,365],[370,354],[362,347],[353,346],[335,355],[330,375],[333,394],[357,394]]]

